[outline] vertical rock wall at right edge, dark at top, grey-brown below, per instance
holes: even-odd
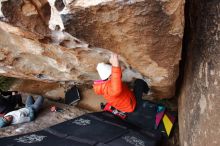
[[[187,2],[184,84],[179,98],[181,146],[220,144],[220,1]]]

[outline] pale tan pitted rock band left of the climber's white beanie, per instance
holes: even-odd
[[[106,50],[42,44],[3,29],[0,25],[0,72],[5,76],[82,83],[97,79],[96,64],[109,58]]]

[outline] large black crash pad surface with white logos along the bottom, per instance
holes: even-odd
[[[0,138],[2,146],[159,146],[155,131],[141,129],[112,116],[97,112],[54,125],[42,131]],[[157,135],[155,137],[155,135]],[[24,140],[32,143],[24,143]],[[23,141],[23,142],[22,142]]]

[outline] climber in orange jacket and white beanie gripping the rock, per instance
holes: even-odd
[[[138,111],[142,105],[142,94],[148,93],[147,83],[141,79],[134,82],[134,90],[131,91],[128,86],[122,82],[122,71],[119,66],[117,54],[112,54],[109,62],[111,65],[99,63],[97,71],[101,80],[94,81],[93,88],[96,94],[103,95],[107,100],[104,110],[110,111],[116,109],[119,116],[125,118],[124,114]],[[102,105],[103,106],[103,105]]]

